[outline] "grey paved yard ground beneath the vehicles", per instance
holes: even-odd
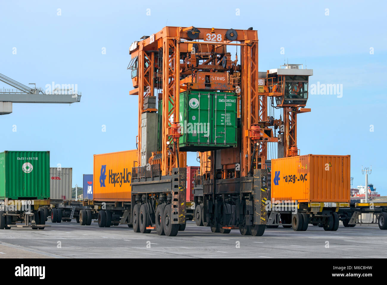
[[[185,231],[165,237],[155,231],[134,233],[126,225],[99,228],[97,223],[80,226],[75,221],[46,224],[51,227],[0,231],[0,258],[380,258],[387,248],[386,231],[378,226],[340,225],[336,232],[312,225],[298,232],[280,226],[267,228],[262,237],[252,237],[240,235],[239,230],[211,233],[209,227],[188,221]]]

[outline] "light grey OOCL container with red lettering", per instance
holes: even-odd
[[[50,199],[71,200],[72,168],[50,168]]]

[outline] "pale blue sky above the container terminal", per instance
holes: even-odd
[[[386,10],[384,1],[2,1],[0,73],[42,88],[77,84],[82,98],[72,105],[14,104],[12,114],[0,116],[0,149],[50,150],[51,166],[72,167],[73,185],[81,186],[93,154],[135,149],[138,103],[128,95],[126,69],[133,41],[164,26],[252,26],[260,71],[306,63],[310,84],[343,86],[342,98],[309,96],[312,112],[298,117],[301,154],[350,154],[354,187],[364,185],[361,166],[372,165],[368,181],[387,195]]]

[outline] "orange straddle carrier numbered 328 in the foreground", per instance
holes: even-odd
[[[240,48],[240,64],[237,59],[231,60],[228,47]],[[203,181],[203,199],[198,205],[202,207],[204,220],[213,232],[228,233],[231,228],[239,227],[242,234],[262,235],[266,224],[267,169],[252,166],[264,152],[257,149],[257,144],[278,141],[278,138],[260,131],[260,124],[267,121],[262,102],[267,97],[259,94],[257,31],[252,28],[165,27],[135,41],[130,54],[132,61],[128,69],[134,86],[130,94],[139,96],[139,153],[135,162],[138,166],[132,169],[131,183],[134,231],[147,232],[156,228],[158,234],[176,235],[185,224],[184,152],[190,148],[182,144],[184,149],[180,151],[183,136],[180,120],[185,111],[180,110],[180,104],[187,103],[190,93],[198,98],[192,98],[195,100],[192,104],[190,100],[190,107],[185,105],[185,108],[195,109],[200,106],[200,100],[208,100],[208,119],[215,125],[214,142],[209,138],[202,142],[196,136],[195,150],[211,148],[212,154],[209,156],[211,176]],[[232,108],[240,114],[239,135],[235,133],[240,168],[235,170],[237,176],[218,177],[217,152],[229,147],[226,145],[229,105],[224,103],[234,102],[236,97],[240,105],[232,105]],[[219,106],[214,103],[215,111],[211,116],[210,102],[219,102]],[[221,113],[220,119],[216,117],[218,107],[224,108],[225,115],[222,117]],[[192,116],[194,118],[196,116]],[[222,128],[217,125],[217,119]],[[237,120],[232,124],[236,128]],[[199,135],[201,133],[199,131]],[[224,145],[219,143],[223,142],[223,135]],[[149,219],[142,219],[144,216]],[[138,219],[149,226],[146,229],[137,226]]]

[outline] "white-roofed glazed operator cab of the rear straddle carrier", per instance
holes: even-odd
[[[274,93],[278,107],[305,107],[307,104],[308,80],[313,69],[302,67],[302,64],[284,64],[279,69],[269,70],[268,92]]]

